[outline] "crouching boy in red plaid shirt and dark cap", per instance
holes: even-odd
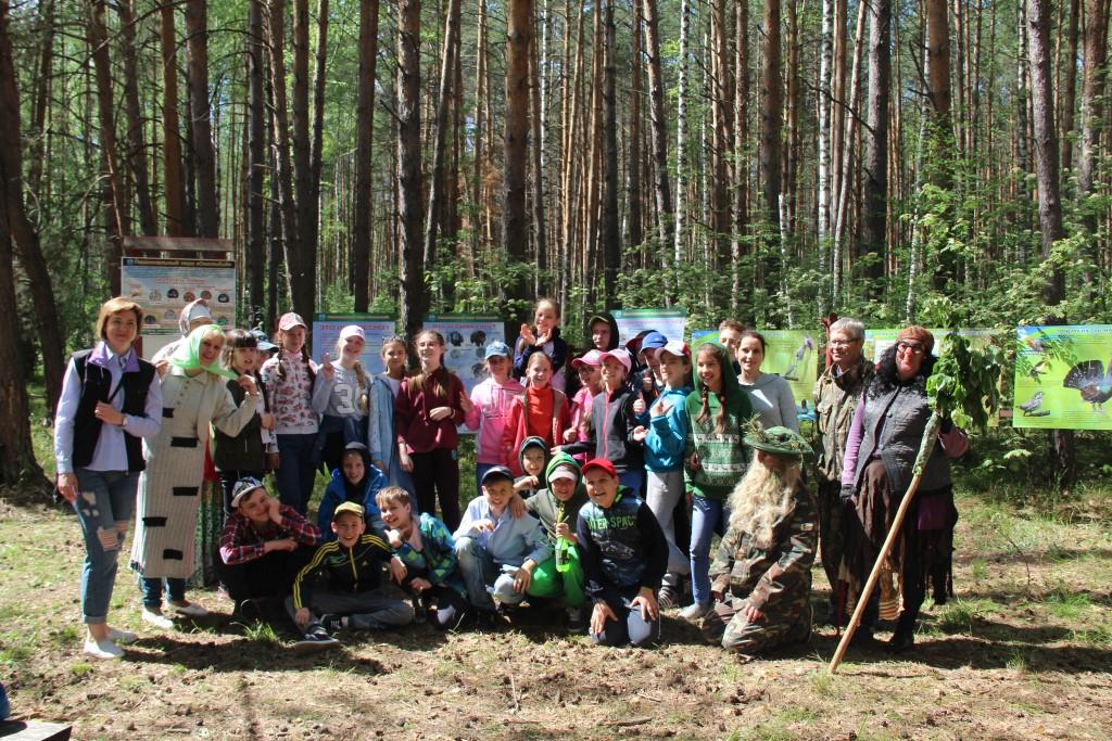
[[[320,531],[268,494],[258,479],[237,481],[230,504],[220,533],[220,581],[236,605],[235,617],[259,618],[269,601],[280,610]]]

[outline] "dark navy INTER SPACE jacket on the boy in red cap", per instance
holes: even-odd
[[[643,587],[661,589],[668,569],[668,541],[653,510],[627,487],[608,509],[590,501],[576,523],[586,592],[595,601],[631,597]]]

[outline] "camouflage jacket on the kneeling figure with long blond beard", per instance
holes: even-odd
[[[748,598],[770,617],[790,615],[806,605],[818,544],[817,505],[803,484],[793,500],[792,510],[773,527],[772,548],[757,548],[741,528],[726,531],[711,564],[713,591]]]

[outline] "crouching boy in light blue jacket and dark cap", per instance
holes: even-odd
[[[483,474],[483,495],[471,500],[456,530],[456,557],[467,585],[467,601],[479,629],[498,624],[495,600],[519,604],[533,583],[533,571],[552,555],[540,523],[510,511],[514,475],[504,465]]]

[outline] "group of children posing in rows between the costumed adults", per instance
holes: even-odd
[[[272,571],[289,585],[305,645],[331,644],[340,625],[386,627],[415,613],[441,629],[465,620],[489,628],[524,601],[562,605],[569,631],[606,643],[658,635],[662,608],[686,604],[679,614],[687,620],[707,613],[712,539],[725,532],[726,500],[751,455],[743,435],[756,404],[735,367],[743,353],[708,341],[693,357],[659,332],[620,348],[614,319],[597,314],[587,328],[594,347],[568,363],[558,309],[543,300],[513,348],[486,348],[488,378],[468,395],[444,367],[436,331],[414,340],[415,374],[405,374],[407,348],[395,338],[383,346],[386,371],[368,378],[358,327],[341,331],[338,360],[328,370],[326,358],[324,371],[308,360],[304,329],[296,314],[282,318],[280,349],[264,364],[262,382],[277,407],[278,471],[304,450],[331,469],[317,525],[304,517],[311,485],[295,489],[300,480],[287,471],[277,482],[281,503],[256,518],[261,524],[248,528],[242,504],[234,507],[221,553],[234,567],[229,554],[245,535],[281,543],[257,553],[287,553]],[[733,322],[722,334],[758,342],[763,356],[759,334]],[[763,394],[761,405],[781,408]],[[312,435],[315,415],[315,438],[297,440]],[[477,432],[481,492],[463,513],[460,424]],[[258,480],[239,485],[258,491]],[[316,541],[298,538],[307,530],[324,543],[315,554]],[[375,564],[389,564],[394,585],[380,583]],[[321,577],[345,597],[318,600],[331,592],[307,585]],[[252,594],[229,591],[239,609],[245,600],[250,609]]]

